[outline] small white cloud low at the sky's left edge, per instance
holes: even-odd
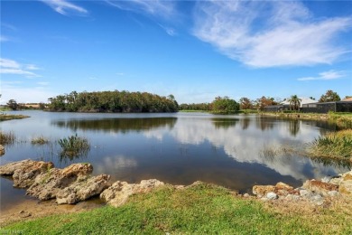
[[[0,58],[0,73],[1,74],[17,74],[24,75],[27,78],[41,77],[40,75],[29,71],[31,68],[37,68],[33,64],[22,65],[17,61]]]

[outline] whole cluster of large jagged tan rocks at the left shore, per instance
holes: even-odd
[[[12,175],[14,186],[28,188],[27,194],[40,200],[77,203],[97,195],[110,184],[110,176],[90,176],[91,164],[71,164],[64,169],[42,161],[23,160],[0,166],[0,174]]]

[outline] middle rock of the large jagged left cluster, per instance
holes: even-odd
[[[34,183],[27,190],[27,194],[40,200],[55,198],[60,190],[92,171],[93,166],[91,164],[71,164],[62,170],[52,168],[49,172],[40,174],[35,178]]]

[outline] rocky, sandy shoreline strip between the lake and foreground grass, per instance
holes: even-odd
[[[23,162],[25,164],[23,164]],[[15,165],[14,165],[15,164]],[[29,189],[31,190],[32,185],[35,184],[35,182],[41,182],[39,185],[40,186],[40,191],[36,191],[33,194],[33,198],[30,202],[23,202],[22,204],[15,205],[13,208],[2,211],[1,217],[0,217],[0,226],[6,226],[9,224],[13,224],[14,222],[17,221],[29,221],[29,220],[34,220],[36,218],[42,218],[42,217],[48,217],[53,214],[62,214],[62,213],[70,213],[70,212],[79,212],[79,211],[91,211],[97,208],[105,207],[106,205],[112,206],[112,207],[120,207],[124,205],[125,203],[129,202],[130,196],[134,196],[135,194],[144,194],[144,193],[153,193],[154,190],[157,191],[158,188],[172,188],[175,192],[180,192],[182,190],[187,190],[192,187],[197,187],[198,185],[213,185],[212,187],[217,187],[217,188],[223,188],[219,185],[212,184],[212,183],[202,183],[202,182],[195,182],[192,183],[188,186],[185,185],[171,185],[168,183],[162,183],[158,180],[144,180],[141,183],[126,183],[126,182],[120,182],[117,181],[115,183],[111,182],[105,182],[100,183],[99,189],[100,190],[92,190],[94,193],[90,193],[87,198],[83,198],[79,201],[68,201],[69,199],[72,198],[72,196],[77,196],[79,194],[80,190],[82,190],[81,186],[82,184],[77,184],[77,181],[80,183],[82,180],[84,181],[85,189],[86,188],[92,188],[91,185],[95,185],[94,183],[97,183],[97,180],[90,181],[89,179],[97,179],[96,177],[98,176],[90,176],[87,169],[89,168],[90,164],[71,164],[68,167],[64,169],[57,169],[56,168],[51,168],[54,169],[51,172],[47,172],[46,169],[44,169],[43,172],[39,173],[38,171],[42,171],[43,168],[42,166],[44,165],[47,167],[47,164],[50,163],[44,163],[44,162],[35,162],[35,161],[22,161],[22,162],[16,162],[12,165],[15,166],[14,168],[17,169],[14,170],[13,178],[14,178],[14,185],[20,184],[20,185],[25,185],[27,187],[27,194],[29,192],[28,190],[28,184],[25,184],[28,182],[28,178],[23,179],[23,182],[16,182],[16,179],[18,180],[21,178],[24,174],[28,175],[29,172],[36,174],[35,179],[32,179],[31,186],[29,186]],[[32,167],[28,167],[29,164],[32,165]],[[30,166],[31,166],[30,165]],[[11,165],[10,165],[11,166]],[[23,168],[23,172],[18,172],[19,168]],[[12,172],[6,172],[6,165],[0,166],[0,173],[2,175],[4,174],[12,174]],[[10,167],[11,168],[11,167]],[[8,170],[8,167],[7,167]],[[55,172],[56,171],[56,172]],[[88,174],[88,178],[82,178],[82,174]],[[23,174],[21,176],[21,174]],[[51,174],[50,176],[48,176]],[[50,200],[47,200],[46,198],[42,198],[39,196],[39,199],[35,199],[35,197],[38,197],[36,195],[40,195],[41,192],[46,192],[48,188],[45,188],[48,184],[50,186],[50,182],[54,181],[57,179],[58,176],[54,176],[54,174],[57,175],[63,175],[67,174],[70,175],[69,177],[72,177],[72,175],[80,175],[78,180],[76,182],[72,182],[70,185],[68,185],[66,188],[62,189],[65,193],[62,196],[62,193],[57,193],[57,190],[55,188],[51,188],[53,192],[56,192],[56,196],[53,197]],[[52,177],[51,177],[52,176]],[[51,177],[51,178],[48,178]],[[42,179],[47,179],[49,180],[48,183],[42,182]],[[66,178],[62,177],[63,180]],[[31,179],[30,179],[31,180]],[[92,183],[93,182],[93,183]],[[24,184],[23,184],[24,183]],[[75,184],[76,183],[76,184]],[[99,183],[98,183],[99,184]],[[101,186],[102,184],[106,186]],[[74,187],[72,186],[74,185]],[[68,190],[70,188],[70,190]],[[93,187],[94,188],[94,187]],[[50,189],[50,187],[49,187]],[[83,191],[85,191],[83,189]],[[224,188],[225,189],[225,188]],[[33,190],[32,190],[33,191]],[[226,189],[228,193],[231,193],[234,195],[238,200],[254,200],[254,201],[259,201],[259,202],[264,202],[265,206],[271,206],[274,205],[274,207],[278,208],[285,208],[285,207],[292,207],[295,208],[296,206],[298,207],[303,207],[303,208],[310,208],[310,210],[318,210],[317,208],[329,208],[332,204],[338,203],[338,204],[343,204],[345,205],[346,203],[351,204],[350,200],[352,200],[352,171],[347,172],[346,174],[340,174],[340,175],[335,175],[332,177],[325,177],[324,179],[321,180],[308,180],[306,183],[303,183],[301,187],[298,188],[293,188],[292,186],[286,184],[286,183],[276,183],[275,185],[254,185],[253,186],[253,194],[248,194],[248,193],[237,193],[234,190],[229,190]],[[99,197],[107,202],[101,202],[100,200],[97,200],[97,197]],[[55,202],[56,198],[56,202]],[[63,202],[63,204],[61,204]],[[266,203],[268,202],[268,204]],[[352,204],[351,204],[352,205]]]

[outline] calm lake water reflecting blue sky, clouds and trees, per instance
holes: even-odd
[[[254,184],[277,182],[301,185],[306,179],[338,174],[347,168],[324,165],[290,154],[270,155],[273,147],[302,147],[333,131],[326,123],[280,120],[258,116],[176,114],[81,114],[23,111],[31,118],[1,122],[17,142],[5,147],[0,164],[27,158],[51,161],[56,167],[93,164],[93,174],[111,174],[113,180],[138,183],[156,178],[165,183],[217,183],[240,192]],[[74,134],[86,136],[87,155],[60,157],[57,140]],[[33,146],[31,139],[45,136],[50,145]],[[1,209],[28,200],[24,190],[0,178]]]

